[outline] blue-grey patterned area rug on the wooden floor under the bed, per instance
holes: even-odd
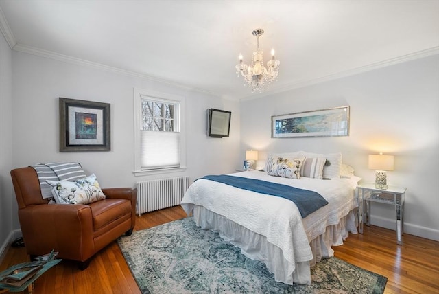
[[[142,293],[383,293],[387,282],[338,258],[311,268],[311,285],[276,282],[263,262],[196,227],[191,217],[117,242]]]

